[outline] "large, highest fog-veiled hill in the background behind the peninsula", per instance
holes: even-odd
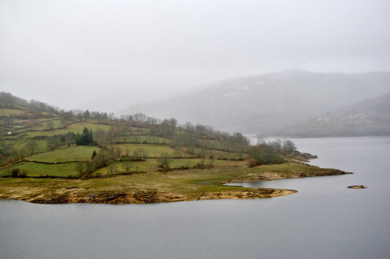
[[[228,132],[269,132],[386,92],[390,92],[389,72],[335,74],[296,69],[223,80],[120,113],[173,116],[180,123],[189,120]]]

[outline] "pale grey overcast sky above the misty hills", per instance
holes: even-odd
[[[0,91],[111,112],[284,69],[390,71],[389,14],[388,0],[0,0]]]

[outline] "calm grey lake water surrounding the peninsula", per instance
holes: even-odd
[[[271,199],[163,204],[0,200],[1,258],[390,258],[390,136],[294,139],[354,174],[259,183]],[[347,189],[365,185],[367,189]]]

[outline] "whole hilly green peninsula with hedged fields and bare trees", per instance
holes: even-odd
[[[254,199],[295,190],[224,183],[347,174],[288,139],[255,143],[239,132],[142,113],[59,110],[0,93],[0,198],[31,203],[160,203]]]

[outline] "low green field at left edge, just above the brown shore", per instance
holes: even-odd
[[[66,164],[38,164],[33,162],[21,162],[12,166],[10,171],[14,168],[19,168],[20,171],[26,170],[27,176],[69,176],[77,175],[74,166],[76,163],[66,163]],[[4,168],[4,167],[3,167]],[[0,176],[8,175],[7,169],[0,171]]]

